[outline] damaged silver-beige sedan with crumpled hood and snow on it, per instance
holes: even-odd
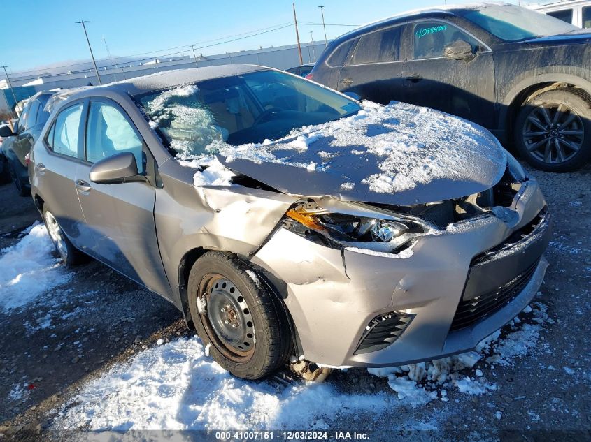
[[[64,98],[29,168],[57,251],[173,302],[236,376],[468,351],[546,272],[538,184],[468,121],[260,66]]]

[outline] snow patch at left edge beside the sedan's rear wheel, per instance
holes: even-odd
[[[55,251],[47,229],[36,222],[14,246],[0,251],[0,308],[22,307],[42,293],[69,281],[52,253]]]

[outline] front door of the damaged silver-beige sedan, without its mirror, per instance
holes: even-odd
[[[92,165],[120,152],[134,154],[142,176],[119,184],[91,182]],[[90,102],[85,163],[77,170],[76,188],[94,233],[91,254],[150,290],[169,293],[154,221],[155,161],[136,126],[114,101]]]

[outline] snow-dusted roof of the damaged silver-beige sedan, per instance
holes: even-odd
[[[227,64],[222,66],[206,66],[202,68],[175,69],[173,71],[157,72],[143,77],[130,78],[120,82],[97,86],[92,89],[112,89],[131,96],[145,92],[168,89],[181,84],[192,84],[213,78],[231,77],[250,72],[264,71],[269,68],[253,64]]]

